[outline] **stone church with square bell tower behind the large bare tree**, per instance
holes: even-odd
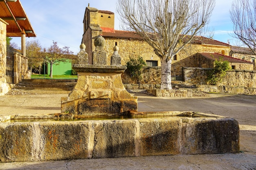
[[[89,64],[91,64],[92,51],[94,51],[94,38],[97,35],[102,35],[106,39],[105,51],[107,52],[107,64],[110,65],[110,56],[112,55],[113,47],[119,46],[119,55],[121,56],[121,64],[126,65],[130,57],[141,56],[147,63],[147,66],[161,66],[159,57],[155,55],[153,48],[149,46],[144,40],[135,32],[120,31],[114,29],[114,13],[110,11],[101,11],[96,8],[87,7],[84,15],[84,34],[82,43],[86,45],[86,52],[88,53]],[[214,56],[228,57],[231,51],[231,46],[224,42],[219,42],[210,38],[195,36],[190,44],[186,45],[173,58],[173,69],[179,70],[177,74],[181,74],[182,66],[197,67],[197,60],[192,60],[193,57],[198,56],[198,53],[214,53]],[[219,55],[217,55],[219,54]],[[204,56],[204,55],[202,55]],[[205,66],[213,66],[212,60],[207,57],[201,57]],[[236,59],[232,60],[235,61]],[[193,61],[193,62],[191,62]],[[243,60],[236,60],[236,69],[250,68],[252,63]],[[241,63],[241,64],[238,64]],[[249,64],[249,66],[242,66]],[[201,64],[202,65],[202,64]],[[239,65],[239,66],[238,66]],[[177,75],[176,74],[176,75]]]

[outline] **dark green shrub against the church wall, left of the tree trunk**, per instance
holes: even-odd
[[[127,71],[130,74],[132,80],[136,81],[136,83],[139,83],[141,80],[141,68],[143,66],[146,66],[146,62],[143,60],[142,57],[130,58],[128,62],[126,62]]]

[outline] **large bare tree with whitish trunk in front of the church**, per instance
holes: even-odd
[[[117,13],[146,41],[162,65],[161,89],[171,89],[173,56],[209,22],[215,0],[118,0]]]

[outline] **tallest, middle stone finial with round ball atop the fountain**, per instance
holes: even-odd
[[[94,39],[95,51],[92,52],[92,64],[94,65],[107,65],[107,52],[103,49],[106,40],[101,36]]]

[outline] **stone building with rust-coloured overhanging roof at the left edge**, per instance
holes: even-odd
[[[0,1],[0,95],[30,78],[25,39],[35,36],[20,1]],[[7,45],[6,37],[21,37],[21,53]]]

